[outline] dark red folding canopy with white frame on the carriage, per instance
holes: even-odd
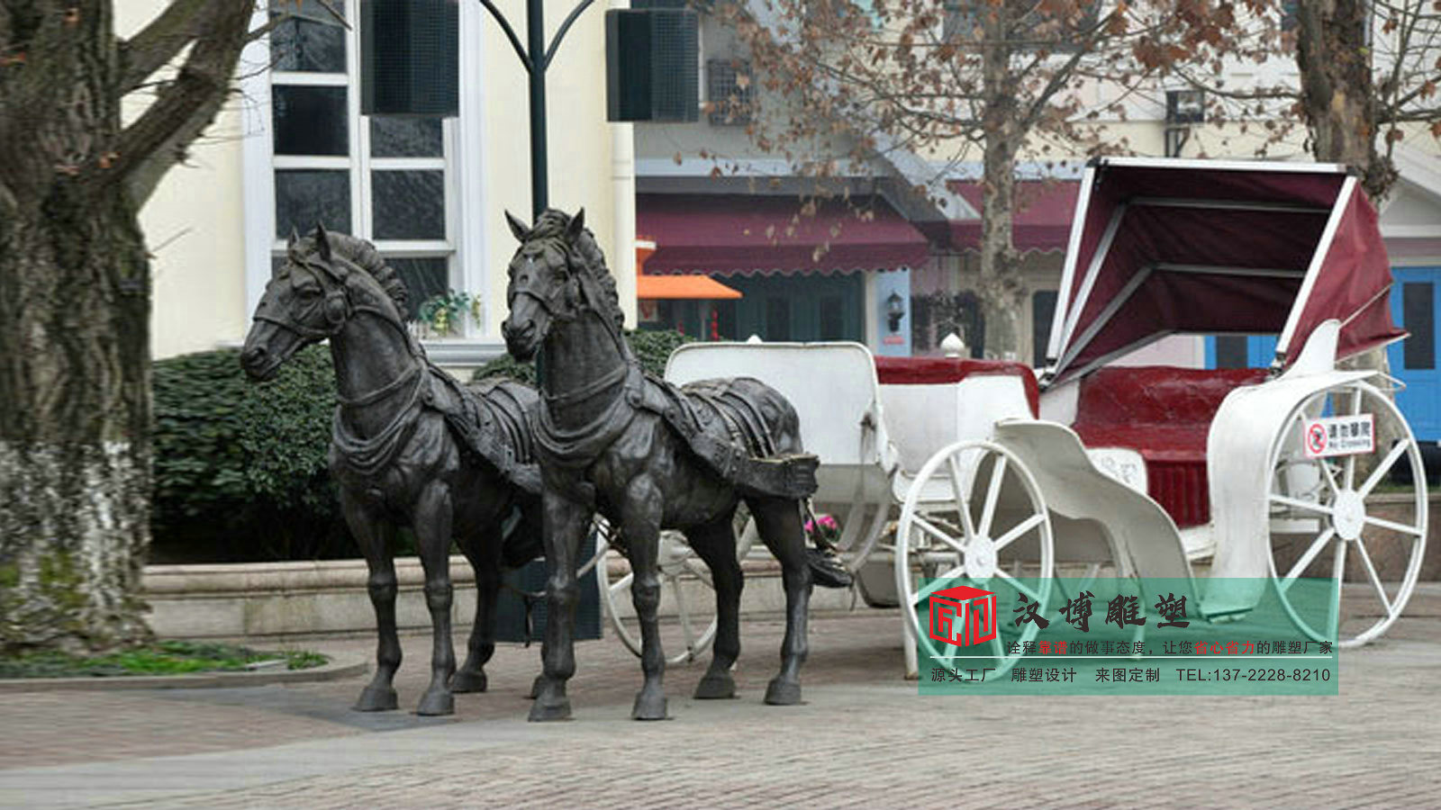
[[[1329,164],[1099,160],[1061,284],[1052,379],[1172,333],[1280,334],[1282,368],[1327,319],[1340,356],[1405,336],[1376,212]]]

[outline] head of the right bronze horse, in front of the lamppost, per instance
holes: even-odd
[[[545,343],[556,321],[574,320],[582,303],[581,277],[586,272],[576,251],[585,233],[585,209],[568,216],[548,209],[532,228],[506,212],[510,232],[520,241],[510,259],[506,303],[510,316],[500,324],[506,349],[520,362],[529,360]]]

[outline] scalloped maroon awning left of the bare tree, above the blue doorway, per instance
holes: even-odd
[[[635,233],[656,241],[647,275],[774,275],[921,267],[931,245],[879,197],[821,203],[794,196],[638,195]]]

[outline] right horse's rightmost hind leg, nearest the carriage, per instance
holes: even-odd
[[[785,587],[785,638],[781,641],[781,672],[765,689],[765,702],[790,706],[801,702],[801,664],[808,651],[806,618],[810,610],[810,565],[806,562],[806,529],[800,504],[780,497],[748,502],[761,539],[781,562]]]

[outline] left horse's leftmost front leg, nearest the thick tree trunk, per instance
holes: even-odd
[[[365,555],[370,575],[366,589],[370,605],[375,607],[375,626],[379,641],[375,650],[375,677],[360,690],[356,700],[357,712],[383,712],[396,708],[395,670],[401,667],[401,638],[395,631],[395,559],[391,556],[391,539],[395,525],[379,510],[369,509],[347,490],[340,490],[340,512],[354,535],[360,553]]]

